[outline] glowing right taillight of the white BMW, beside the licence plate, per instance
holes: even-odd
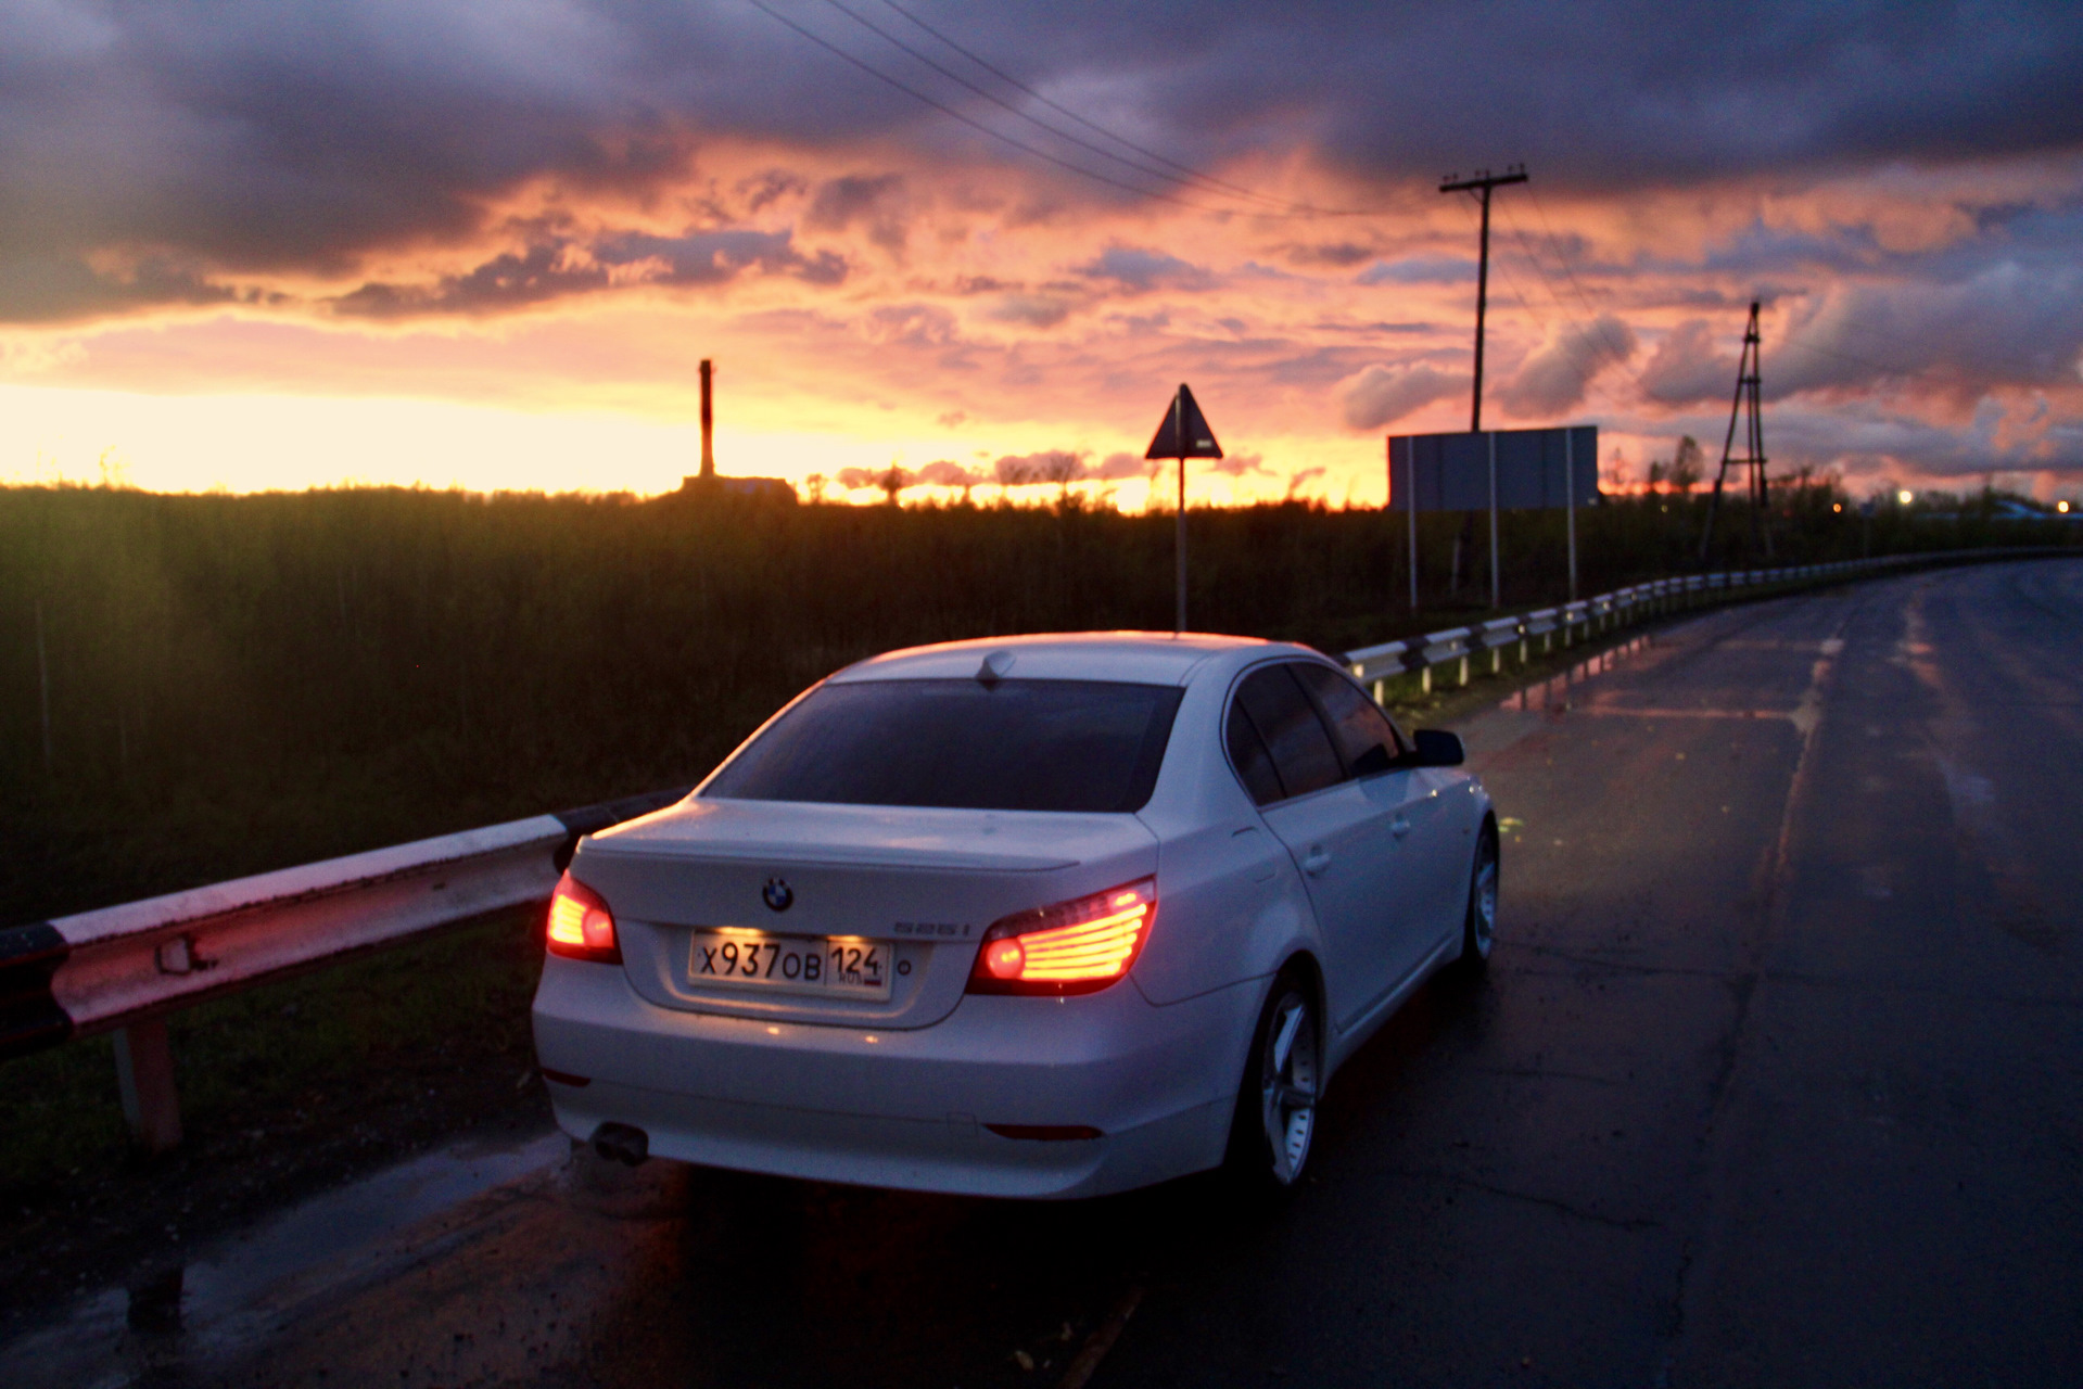
[[[969,973],[971,993],[1091,993],[1135,964],[1158,914],[1156,879],[994,923]]]

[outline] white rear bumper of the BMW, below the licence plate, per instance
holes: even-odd
[[[621,968],[550,958],[535,1052],[558,1125],[633,1125],[662,1158],[912,1191],[1081,1197],[1223,1160],[1258,987],[1152,1006],[964,997],[933,1027],[879,1031],[658,1008]],[[992,1125],[1089,1127],[1096,1139]]]

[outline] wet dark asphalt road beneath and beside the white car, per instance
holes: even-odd
[[[1464,727],[1491,970],[1339,1072],[1283,1202],[577,1162],[96,1354],[981,1387],[1104,1329],[1098,1387],[2083,1383],[2083,562],[1718,612],[1527,704]]]

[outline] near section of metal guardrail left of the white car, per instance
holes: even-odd
[[[117,1029],[131,1133],[181,1139],[167,1012],[502,908],[544,902],[581,835],[669,806],[631,795],[0,931],[0,1058]]]

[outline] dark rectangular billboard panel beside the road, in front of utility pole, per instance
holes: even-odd
[[[1406,433],[1389,437],[1389,510],[1489,510],[1489,441],[1498,441],[1498,510],[1598,498],[1598,425]]]

